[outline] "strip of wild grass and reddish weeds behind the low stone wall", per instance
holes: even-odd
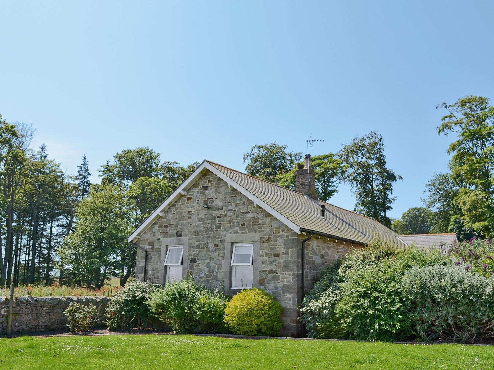
[[[14,296],[27,296],[28,291],[31,296],[42,297],[42,296],[108,296],[108,294],[114,295],[117,293],[117,287],[106,286],[101,288],[99,291],[93,291],[86,288],[74,288],[67,285],[19,285],[14,288]],[[0,288],[0,297],[10,296],[10,289]]]

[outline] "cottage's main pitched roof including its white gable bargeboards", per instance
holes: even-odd
[[[357,244],[369,244],[379,234],[379,238],[387,242],[399,245],[404,243],[398,238],[397,233],[369,217],[321,200],[315,201],[297,191],[207,160],[201,163],[187,180],[129,236],[128,240],[138,238],[139,234],[159,217],[160,212],[186,193],[186,189],[199,179],[205,169],[213,172],[297,233],[313,231]],[[324,218],[321,216],[321,205],[326,206]]]

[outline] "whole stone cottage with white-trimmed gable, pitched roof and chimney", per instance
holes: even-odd
[[[136,278],[164,284],[191,274],[228,295],[261,288],[284,307],[282,334],[300,336],[297,306],[321,267],[377,233],[403,242],[375,220],[318,200],[308,154],[295,183],[293,191],[205,160],[129,236]]]

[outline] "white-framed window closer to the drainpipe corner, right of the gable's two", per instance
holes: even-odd
[[[253,244],[238,243],[233,245],[232,253],[232,289],[252,288],[252,254]]]

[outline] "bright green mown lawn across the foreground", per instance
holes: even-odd
[[[0,339],[0,369],[491,369],[494,347],[192,335]]]

